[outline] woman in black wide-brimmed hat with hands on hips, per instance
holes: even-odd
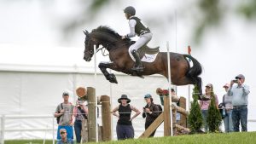
[[[127,95],[121,95],[118,102],[120,103],[119,106],[113,108],[113,115],[119,118],[116,125],[116,134],[118,140],[134,138],[134,129],[131,121],[141,112],[136,107],[133,107],[129,104],[131,100]],[[131,110],[136,112],[132,117]],[[117,111],[119,111],[119,114],[116,113]]]

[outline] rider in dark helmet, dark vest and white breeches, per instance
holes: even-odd
[[[152,33],[148,29],[148,26],[145,26],[143,22],[139,18],[137,18],[137,16],[135,16],[136,10],[133,7],[126,7],[124,9],[124,12],[126,19],[129,20],[130,33],[123,36],[122,39],[125,39],[127,37],[135,37],[136,34],[137,36],[139,36],[137,42],[132,44],[129,48],[129,50],[131,50],[131,54],[136,60],[136,66],[131,69],[137,72],[143,72],[144,67],[137,52],[137,49],[143,47],[143,45],[147,44],[151,40]]]

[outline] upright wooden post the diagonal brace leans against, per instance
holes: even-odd
[[[170,136],[171,135],[171,117],[170,117],[170,97],[164,96],[164,135]]]

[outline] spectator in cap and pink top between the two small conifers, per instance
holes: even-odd
[[[214,94],[212,84],[207,84],[206,93],[202,95],[201,100],[199,101],[200,107],[201,107],[201,113],[203,116],[205,132],[208,131],[207,113],[208,113],[208,108],[210,106],[211,99],[213,98],[213,96],[215,97],[216,107],[218,108],[218,96]]]

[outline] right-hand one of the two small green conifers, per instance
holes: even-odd
[[[215,104],[215,96],[212,96],[211,104],[207,113],[207,124],[210,132],[218,132],[221,124],[221,115]]]

